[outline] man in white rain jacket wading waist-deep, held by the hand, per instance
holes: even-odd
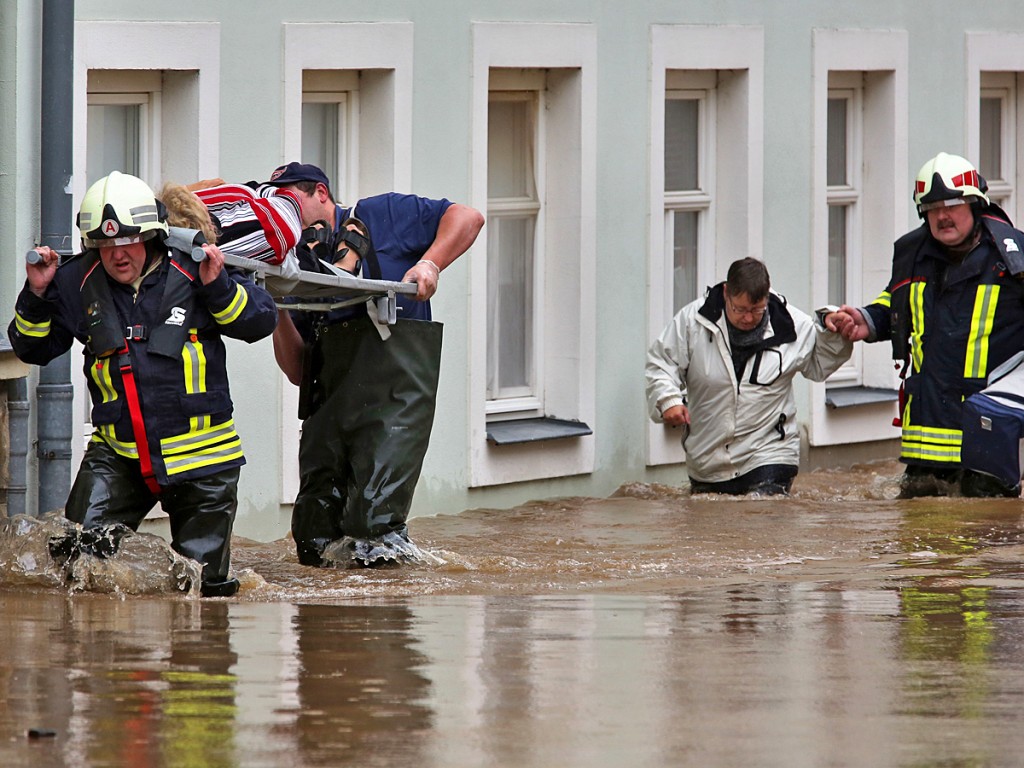
[[[824,381],[851,352],[771,292],[761,261],[734,261],[647,351],[650,417],[683,427],[692,493],[787,494],[800,464],[793,377]]]

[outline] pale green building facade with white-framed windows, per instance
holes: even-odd
[[[114,169],[156,188],[302,159],[342,202],[471,205],[487,223],[433,301],[444,351],[414,514],[679,483],[678,434],[647,419],[645,352],[730,262],[764,259],[804,309],[866,303],[940,151],[1022,218],[1019,3],[940,5],[78,0],[69,194],[77,210]],[[38,2],[0,8],[8,318],[39,237],[40,19]],[[236,530],[276,539],[297,393],[269,340],[229,357],[249,459]],[[887,344],[799,381],[806,466],[895,458],[896,385]],[[75,393],[73,466],[89,430]]]

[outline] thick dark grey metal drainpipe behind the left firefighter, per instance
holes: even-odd
[[[39,243],[61,258],[72,254],[71,179],[75,108],[75,2],[43,0],[40,91]],[[39,508],[60,509],[71,490],[73,436],[71,353],[39,373],[36,386]]]

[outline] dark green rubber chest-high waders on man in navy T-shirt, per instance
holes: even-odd
[[[327,545],[338,540],[351,544],[360,564],[403,559],[433,425],[442,326],[399,319],[390,329],[382,339],[359,316],[324,328],[312,344],[314,410],[302,424],[292,513],[303,564],[323,564]]]

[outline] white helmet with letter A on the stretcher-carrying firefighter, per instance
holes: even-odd
[[[75,222],[86,248],[126,246],[167,237],[167,209],[142,179],[119,171],[85,193]]]

